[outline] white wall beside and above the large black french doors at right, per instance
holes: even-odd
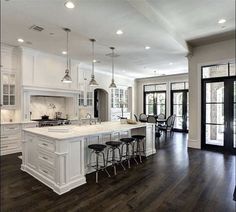
[[[189,57],[189,147],[201,148],[201,66],[234,58],[234,39],[193,48]]]

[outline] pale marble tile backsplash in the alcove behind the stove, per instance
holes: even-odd
[[[30,98],[31,119],[40,119],[48,115],[50,119],[55,118],[56,112],[61,112],[62,118],[66,117],[66,98],[50,96],[31,96]]]

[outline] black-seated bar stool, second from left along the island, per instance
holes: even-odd
[[[107,141],[106,142],[106,145],[109,147],[107,149],[107,163],[106,163],[106,166],[108,163],[111,163],[112,166],[113,166],[113,169],[114,169],[114,175],[116,175],[116,165],[117,164],[120,164],[122,166],[122,168],[125,170],[125,167],[123,166],[122,164],[122,161],[121,161],[121,152],[120,152],[120,145],[122,143],[119,142],[119,141]],[[116,150],[118,151],[118,158],[116,157]],[[111,160],[109,160],[109,156],[110,156],[110,152],[111,152]]]

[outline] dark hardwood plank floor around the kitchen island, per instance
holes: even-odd
[[[186,135],[160,141],[158,153],[116,177],[94,174],[64,194],[20,170],[17,154],[1,157],[1,211],[235,211],[235,156],[186,148]]]

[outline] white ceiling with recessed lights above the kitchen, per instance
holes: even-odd
[[[95,38],[96,70],[111,71],[110,46],[116,74],[148,77],[187,72],[186,41],[235,29],[234,0],[74,0],[69,10],[64,0],[2,0],[2,42],[61,55],[65,32],[70,33],[70,54],[82,67],[90,67],[91,43]],[[222,28],[217,21],[225,18]],[[33,24],[42,32],[29,30]],[[117,35],[122,29],[124,34]],[[50,35],[50,33],[54,35]],[[145,50],[145,46],[150,50]],[[170,63],[173,63],[170,65]]]

